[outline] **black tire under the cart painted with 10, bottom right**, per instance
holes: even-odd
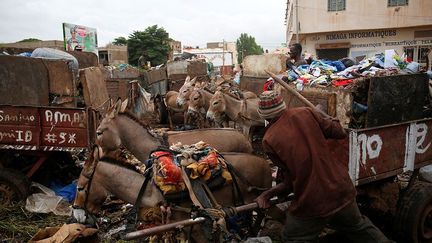
[[[420,224],[422,223],[423,214],[426,210],[428,215],[432,215],[431,209],[431,183],[416,182],[408,188],[399,199],[398,209],[395,215],[394,229],[395,235],[399,236],[397,238],[398,242],[432,242],[432,238],[429,238],[432,237],[432,235],[428,236],[429,239],[425,239],[420,233],[420,231],[422,231]],[[428,233],[432,233],[432,231]],[[401,241],[399,241],[399,239],[401,239]]]

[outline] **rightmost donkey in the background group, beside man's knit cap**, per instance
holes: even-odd
[[[258,114],[258,98],[237,99],[230,94],[216,91],[207,111],[207,119],[217,120],[221,114],[242,127],[243,133],[251,140],[253,129],[264,126],[264,120]]]

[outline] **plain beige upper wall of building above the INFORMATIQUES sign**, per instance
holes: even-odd
[[[346,9],[328,11],[328,0],[298,0],[300,34],[387,29],[432,24],[432,1],[409,0],[388,7],[388,0],[346,0]],[[295,1],[288,3],[287,35],[295,33]]]

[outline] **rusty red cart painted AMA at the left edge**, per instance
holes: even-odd
[[[30,181],[79,173],[75,162],[95,140],[98,112],[82,104],[77,60],[40,49],[0,56],[0,205],[25,199]]]

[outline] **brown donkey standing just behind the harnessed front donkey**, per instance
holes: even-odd
[[[96,130],[97,142],[104,152],[115,151],[123,145],[140,161],[145,161],[151,151],[163,142],[150,133],[148,124],[124,112],[125,109],[126,105],[122,105],[121,101],[111,107]],[[168,133],[166,143],[192,144],[199,141],[210,144],[220,152],[252,152],[252,145],[243,134],[227,128]]]

